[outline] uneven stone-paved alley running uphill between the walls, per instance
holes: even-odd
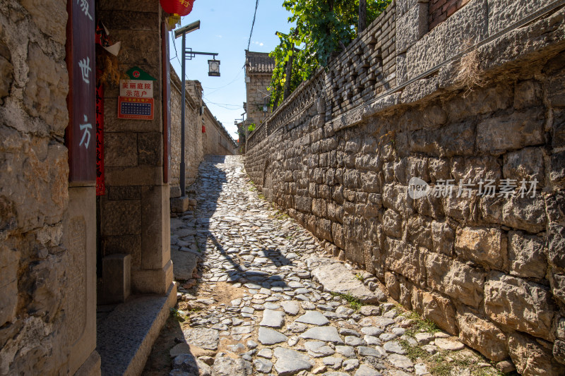
[[[178,310],[144,375],[499,375],[326,255],[255,190],[242,158],[208,157],[194,214],[171,219]]]

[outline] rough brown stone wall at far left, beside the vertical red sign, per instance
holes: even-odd
[[[0,3],[0,375],[73,374],[91,355],[100,373],[85,301],[94,273],[72,270],[92,261],[95,201],[68,182],[66,7]]]

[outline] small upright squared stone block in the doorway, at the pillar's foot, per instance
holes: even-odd
[[[102,258],[102,284],[105,303],[123,303],[131,292],[131,255],[115,254]]]

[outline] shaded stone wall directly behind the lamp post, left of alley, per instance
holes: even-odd
[[[171,66],[171,150],[169,185],[171,186],[171,197],[179,197],[179,179],[181,163],[181,80]],[[194,90],[191,81],[186,82],[184,109],[184,164],[186,167],[184,176],[186,186],[190,186],[198,177],[198,165],[204,160],[202,147],[202,90],[199,95]],[[191,88],[191,90],[189,90]]]

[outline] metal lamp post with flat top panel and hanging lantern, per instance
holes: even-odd
[[[181,107],[181,176],[180,176],[180,183],[181,183],[181,196],[186,196],[186,180],[184,177],[185,174],[185,164],[184,164],[184,107],[186,103],[184,102],[185,99],[185,91],[186,91],[186,80],[185,80],[185,66],[186,66],[186,58],[192,60],[196,55],[209,55],[213,56],[212,60],[208,60],[208,75],[213,77],[220,77],[220,61],[216,60],[216,56],[218,56],[215,52],[195,52],[192,49],[186,49],[186,34],[189,32],[193,32],[194,30],[198,30],[200,28],[200,20],[195,21],[194,23],[190,23],[189,25],[184,26],[183,28],[179,28],[174,30],[174,37],[178,38],[182,36],[182,107]],[[187,56],[188,55],[188,56]]]

